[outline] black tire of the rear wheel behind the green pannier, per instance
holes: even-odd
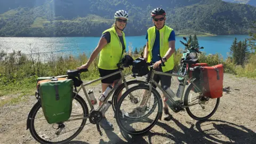
[[[74,93],[75,94],[75,93]],[[83,108],[83,113],[84,113],[84,116],[87,116],[89,114],[89,110],[88,110],[88,107],[86,105],[86,102],[84,101],[84,99],[80,96],[80,95],[76,95],[76,97],[74,98],[75,100],[77,100],[80,105],[82,106]],[[38,141],[39,143],[66,143],[72,139],[74,139],[84,128],[85,124],[86,124],[86,118],[83,119],[82,123],[81,123],[81,126],[77,129],[77,131],[71,135],[69,138],[65,139],[65,140],[62,140],[62,141],[58,141],[58,142],[51,142],[51,141],[46,141],[46,140],[43,140],[41,137],[39,137],[39,135],[36,133],[36,130],[35,130],[35,127],[34,127],[34,119],[35,119],[35,116],[36,116],[36,113],[37,111],[41,108],[41,105],[40,105],[40,102],[38,101],[34,107],[31,109],[31,119],[29,120],[29,131],[32,135],[32,137]]]

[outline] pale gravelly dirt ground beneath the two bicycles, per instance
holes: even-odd
[[[256,143],[256,81],[230,74],[224,76],[219,108],[207,121],[195,121],[186,111],[172,112],[172,121],[159,120],[148,133],[131,137],[120,132],[110,107],[106,117],[114,130],[101,129],[100,136],[96,125],[88,124],[69,143]],[[175,78],[172,85],[178,85]],[[89,89],[94,90],[98,99],[101,85]],[[85,98],[82,91],[79,94]],[[37,143],[26,130],[27,116],[36,99],[34,95],[27,99],[0,107],[0,143]]]

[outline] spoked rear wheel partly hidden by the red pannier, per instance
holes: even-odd
[[[199,85],[199,81],[193,81],[196,85]],[[188,115],[197,120],[203,121],[210,118],[217,110],[220,103],[220,98],[211,99],[203,97],[202,92],[195,92],[195,86],[190,83],[184,97],[184,105]]]

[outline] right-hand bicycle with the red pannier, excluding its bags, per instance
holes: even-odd
[[[160,55],[158,55],[158,56],[160,57]],[[162,61],[162,58],[161,58],[161,61]],[[119,99],[119,101],[117,103],[116,111],[121,111],[121,113],[116,112],[115,117],[116,117],[116,122],[117,122],[119,128],[122,131],[125,131],[129,134],[143,134],[143,133],[146,133],[147,131],[151,130],[154,127],[154,125],[156,124],[156,122],[158,121],[158,119],[160,119],[162,117],[162,110],[163,110],[162,98],[161,98],[159,92],[153,87],[153,85],[156,85],[156,87],[158,87],[158,89],[163,92],[163,94],[165,95],[165,98],[166,98],[164,101],[172,109],[172,111],[174,111],[174,113],[178,113],[179,111],[185,111],[185,109],[186,109],[188,115],[191,118],[193,118],[197,121],[203,121],[205,119],[208,119],[215,113],[215,111],[217,110],[217,108],[219,106],[220,98],[212,99],[212,100],[216,101],[216,103],[214,105],[213,110],[210,112],[210,114],[207,114],[206,116],[203,116],[203,117],[196,116],[190,110],[190,107],[195,106],[195,105],[199,105],[202,109],[205,109],[206,104],[208,104],[211,99],[209,97],[204,97],[202,95],[202,89],[201,89],[200,84],[199,84],[200,83],[199,77],[198,76],[189,77],[190,70],[194,71],[198,68],[198,67],[190,68],[191,66],[195,65],[196,61],[194,61],[194,60],[184,60],[183,63],[186,64],[187,67],[188,67],[188,70],[186,71],[185,75],[184,74],[182,74],[182,75],[167,74],[167,73],[159,72],[159,71],[156,71],[155,69],[153,69],[153,63],[148,63],[147,62],[147,64],[145,64],[145,65],[148,65],[150,67],[149,71],[151,72],[151,75],[148,76],[149,77],[148,81],[147,81],[148,83],[131,87],[124,94],[122,94],[122,97]],[[162,61],[161,65],[165,66],[163,61]],[[179,95],[176,95],[176,97],[178,96],[177,97],[178,100],[175,100],[175,95],[171,94],[170,92],[169,92],[170,93],[169,94],[159,84],[157,84],[154,81],[154,79],[153,79],[154,75],[167,75],[167,76],[184,78],[184,81],[183,81],[184,86],[181,89],[181,93]],[[187,81],[189,82],[189,85],[186,89],[185,87],[186,87]],[[186,89],[186,91],[185,91],[185,89]],[[152,94],[154,95],[153,99],[155,99],[156,100],[155,103],[158,103],[159,105],[158,105],[157,114],[156,114],[156,116],[154,117],[153,120],[150,119],[150,118],[147,118],[146,121],[145,120],[141,121],[141,119],[146,117],[146,116],[143,116],[143,114],[145,113],[145,110],[143,111],[143,107],[147,107],[145,101],[141,102],[138,107],[135,107],[135,109],[140,109],[138,113],[135,113],[135,115],[134,115],[134,110],[135,109],[133,109],[132,112],[129,113],[129,112],[124,111],[124,108],[121,108],[121,105],[123,104],[123,102],[126,102],[126,101],[124,101],[124,99],[127,97],[127,95],[131,94],[132,92],[134,92],[136,90],[144,90],[144,91],[142,91],[142,94],[138,94],[138,95],[142,95],[141,96],[142,99],[145,99],[146,102],[147,102],[147,100],[151,99],[150,97],[151,97]],[[195,92],[195,93],[197,93],[197,95],[199,95],[199,96],[196,97],[196,100],[191,99],[190,92]],[[192,102],[194,102],[194,103],[192,103]],[[125,107],[125,108],[127,108],[127,107]],[[129,117],[131,117],[132,115],[134,115],[135,117],[139,116],[139,118],[138,119],[136,119],[136,118],[130,119]],[[125,119],[129,120],[130,123],[127,122],[127,121],[124,121]],[[122,123],[122,121],[124,121],[124,123]],[[133,124],[133,122],[136,122],[136,121],[141,122],[143,124],[150,121],[150,124],[149,124],[149,126],[145,127],[142,130],[134,130],[134,128],[131,127],[129,124]],[[143,125],[143,124],[137,124],[135,126],[136,129],[139,129],[138,125]],[[126,128],[125,126],[128,126],[128,127]]]

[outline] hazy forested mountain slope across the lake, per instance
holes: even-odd
[[[0,0],[0,36],[100,36],[120,9],[126,36],[145,35],[156,7],[177,35],[247,34],[256,19],[256,7],[221,0]]]

